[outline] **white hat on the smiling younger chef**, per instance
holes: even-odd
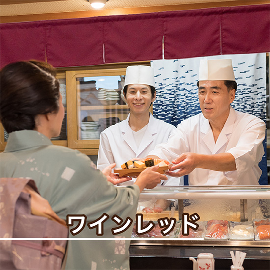
[[[150,66],[128,66],[124,87],[128,84],[146,84],[155,87],[154,69]]]

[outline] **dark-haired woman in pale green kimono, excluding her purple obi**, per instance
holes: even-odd
[[[0,154],[0,176],[33,179],[60,218],[86,216],[81,232],[70,237],[116,237],[69,241],[66,269],[129,269],[130,242],[117,237],[131,237],[133,226],[131,223],[115,236],[112,229],[123,224],[113,218],[117,215],[120,220],[135,220],[140,191],[155,187],[167,177],[155,166],[144,170],[135,185],[115,187],[107,181],[113,178],[113,165],[104,169],[106,178],[86,155],[53,145],[50,139],[60,134],[64,117],[55,76],[51,65],[39,61],[11,63],[0,71],[0,120],[9,133]],[[94,221],[100,223],[91,227]],[[102,236],[98,236],[99,227]]]

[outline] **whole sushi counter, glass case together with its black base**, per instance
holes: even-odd
[[[155,205],[161,201],[169,206],[157,209]],[[214,255],[216,270],[226,270],[232,265],[232,250],[247,254],[245,270],[270,269],[269,186],[146,189],[140,195],[138,214],[142,223],[134,226],[131,269],[188,270],[192,269],[189,257],[207,252]],[[194,215],[199,217],[194,221],[198,229],[189,226],[189,235],[183,235],[183,226],[187,220],[192,223]],[[183,221],[184,216],[188,219]],[[173,230],[163,235],[174,219]],[[152,231],[139,234],[138,227],[145,228],[150,221],[155,225]]]

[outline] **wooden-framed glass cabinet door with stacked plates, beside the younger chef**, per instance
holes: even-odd
[[[66,71],[68,146],[97,155],[102,131],[127,118],[126,67]]]

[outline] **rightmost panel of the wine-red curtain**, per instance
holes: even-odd
[[[224,8],[222,54],[270,52],[270,5]]]

